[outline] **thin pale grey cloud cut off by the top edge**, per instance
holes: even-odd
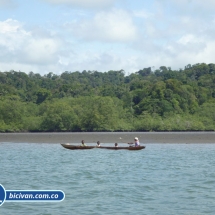
[[[81,8],[104,8],[111,6],[116,0],[43,0],[51,4],[70,5]]]

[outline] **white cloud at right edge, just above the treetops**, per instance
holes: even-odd
[[[213,63],[215,42],[205,35],[184,34],[178,40],[157,46],[157,51],[143,53],[145,67],[170,66],[173,69],[184,68],[187,64]],[[142,58],[142,59],[143,59]],[[140,65],[140,59],[139,63]]]

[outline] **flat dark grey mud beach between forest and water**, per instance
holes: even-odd
[[[128,143],[134,137],[141,143],[215,143],[215,132],[0,133],[0,143]]]

